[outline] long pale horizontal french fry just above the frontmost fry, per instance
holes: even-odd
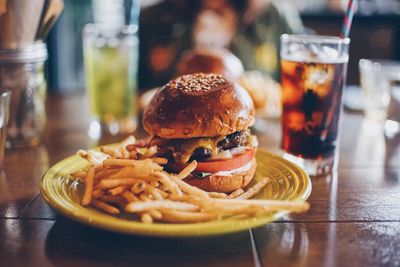
[[[128,212],[142,212],[153,209],[175,209],[175,210],[185,210],[185,211],[195,211],[198,206],[179,202],[172,200],[154,200],[145,202],[131,202],[126,205],[125,210]]]

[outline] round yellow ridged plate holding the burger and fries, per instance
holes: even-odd
[[[257,151],[257,171],[254,180],[270,177],[257,199],[281,199],[303,202],[311,193],[308,175],[297,165],[276,155]],[[44,199],[62,215],[96,228],[132,235],[162,237],[209,236],[242,231],[257,227],[286,214],[271,213],[255,218],[224,219],[220,221],[190,224],[145,224],[129,220],[126,214],[111,216],[90,207],[80,205],[82,185],[73,180],[70,173],[87,166],[78,156],[66,158],[51,167],[43,176],[40,190]],[[255,182],[253,181],[253,183]]]

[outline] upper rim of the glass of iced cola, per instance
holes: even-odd
[[[329,35],[312,34],[282,34],[281,41],[293,41],[302,43],[325,43],[325,44],[350,44],[350,38],[341,38]]]

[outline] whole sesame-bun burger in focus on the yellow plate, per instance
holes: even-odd
[[[149,144],[166,157],[166,169],[179,172],[206,191],[232,192],[254,176],[257,139],[251,135],[253,102],[245,89],[219,74],[188,74],[161,87],[143,113]]]

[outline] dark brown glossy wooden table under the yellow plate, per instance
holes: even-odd
[[[86,134],[83,96],[50,96],[48,104],[45,145],[6,153],[0,266],[400,265],[400,138],[385,140],[379,125],[359,114],[344,114],[339,170],[313,179],[309,212],[238,234],[157,239],[92,229],[44,203],[42,174],[96,145]],[[257,123],[262,147],[278,150],[279,127],[278,121]]]

